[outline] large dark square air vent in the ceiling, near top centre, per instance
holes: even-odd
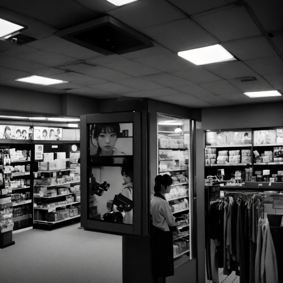
[[[111,16],[57,31],[54,36],[103,55],[125,54],[153,46],[149,38]]]

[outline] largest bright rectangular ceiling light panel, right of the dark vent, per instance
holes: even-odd
[[[180,51],[178,52],[178,56],[192,62],[195,65],[204,65],[237,60],[233,55],[229,54],[229,52],[219,44],[186,51]]]

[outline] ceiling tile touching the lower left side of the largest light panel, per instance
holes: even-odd
[[[156,55],[147,58],[136,59],[135,61],[159,70],[163,70],[163,72],[167,73],[196,68],[196,65],[179,57],[176,54]]]

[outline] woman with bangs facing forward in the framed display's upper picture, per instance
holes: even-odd
[[[96,140],[98,149],[95,156],[126,155],[115,148],[120,133],[119,123],[101,123],[92,127],[92,144]],[[93,144],[94,147],[96,147]]]

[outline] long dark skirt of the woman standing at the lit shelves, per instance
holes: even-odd
[[[172,233],[157,227],[153,227],[152,235],[152,272],[159,277],[174,275]]]

